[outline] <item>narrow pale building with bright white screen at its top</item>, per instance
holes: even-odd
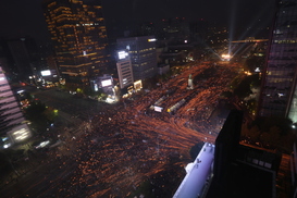
[[[117,51],[116,67],[117,67],[120,88],[123,89],[129,85],[133,85],[134,78],[133,78],[132,64],[131,64],[128,52],[126,52],[125,50]]]

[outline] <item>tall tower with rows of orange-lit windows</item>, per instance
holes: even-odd
[[[44,12],[66,84],[89,85],[107,67],[107,29],[100,1],[45,0]]]

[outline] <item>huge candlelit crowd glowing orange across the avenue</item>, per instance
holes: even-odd
[[[220,127],[210,117],[231,77],[206,77],[207,88],[197,88],[199,91],[187,90],[187,81],[183,81],[182,88],[162,101],[168,102],[166,109],[191,96],[174,114],[149,113],[148,108],[181,78],[195,77],[209,66],[191,66],[180,79],[172,78],[134,102],[109,104],[104,113],[95,112],[63,146],[51,151],[52,160],[61,161],[59,169],[66,172],[59,185],[49,184],[42,196],[128,197],[149,182],[156,197],[171,197],[185,175],[184,166],[191,161],[189,149],[199,141],[214,143]],[[176,169],[172,177],[165,174],[169,166]]]

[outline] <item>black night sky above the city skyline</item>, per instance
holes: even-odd
[[[91,1],[91,0],[90,0]],[[42,0],[0,0],[0,36],[29,35],[48,39]],[[137,24],[141,21],[184,16],[205,18],[230,28],[268,26],[273,0],[102,0],[107,23]]]

